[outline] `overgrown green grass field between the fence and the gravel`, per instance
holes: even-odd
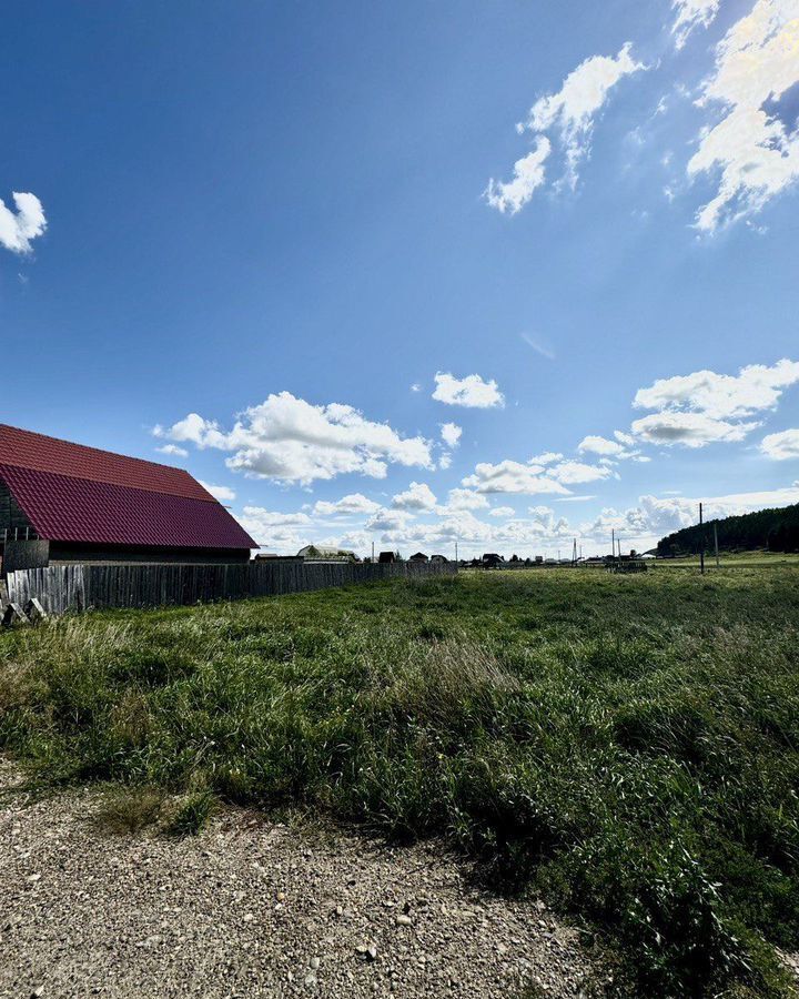
[[[598,930],[620,990],[790,993],[796,565],[64,618],[0,634],[0,747],[45,784],[180,795],[182,831],[221,799],[443,835]]]

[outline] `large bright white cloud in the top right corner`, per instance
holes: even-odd
[[[780,120],[780,99],[799,83],[799,0],[757,0],[716,49],[715,72],[702,84],[700,107],[724,117],[706,127],[688,175],[720,172],[718,193],[699,209],[697,228],[759,211],[799,178],[796,112]]]

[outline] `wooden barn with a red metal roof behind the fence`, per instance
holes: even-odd
[[[182,468],[0,424],[3,569],[69,562],[247,562],[256,547]]]

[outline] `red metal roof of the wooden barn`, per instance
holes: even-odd
[[[169,548],[255,548],[181,468],[0,424],[0,478],[48,541]]]

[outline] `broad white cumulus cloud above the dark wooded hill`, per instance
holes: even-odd
[[[720,441],[742,441],[755,427],[755,416],[777,406],[782,393],[799,382],[799,362],[783,359],[770,367],[751,364],[737,375],[697,371],[659,379],[639,389],[638,408],[658,410],[633,423],[633,434],[656,444],[702,447]]]

